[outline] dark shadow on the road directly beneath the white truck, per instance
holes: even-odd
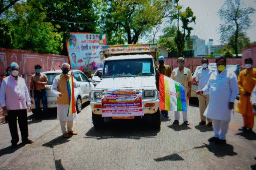
[[[128,121],[129,122],[129,121]],[[105,125],[104,129],[90,128],[84,138],[108,139],[108,138],[127,138],[127,139],[142,139],[155,138],[159,129],[149,127],[144,124],[129,124],[121,121],[120,123],[111,123]]]

